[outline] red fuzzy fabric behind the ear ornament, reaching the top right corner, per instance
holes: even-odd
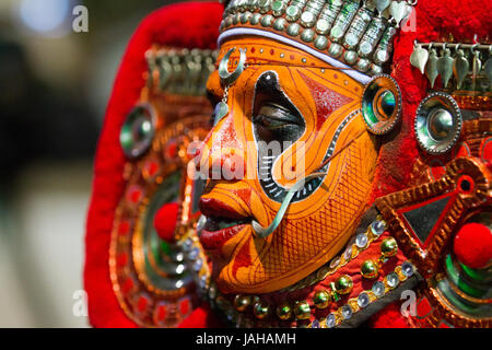
[[[403,189],[421,154],[413,122],[417,107],[430,85],[426,77],[410,65],[414,40],[471,43],[477,34],[478,42],[490,43],[490,0],[419,0],[415,9],[417,31],[400,32],[395,39],[391,75],[401,89],[403,120],[401,129],[391,132],[382,147],[373,199]]]

